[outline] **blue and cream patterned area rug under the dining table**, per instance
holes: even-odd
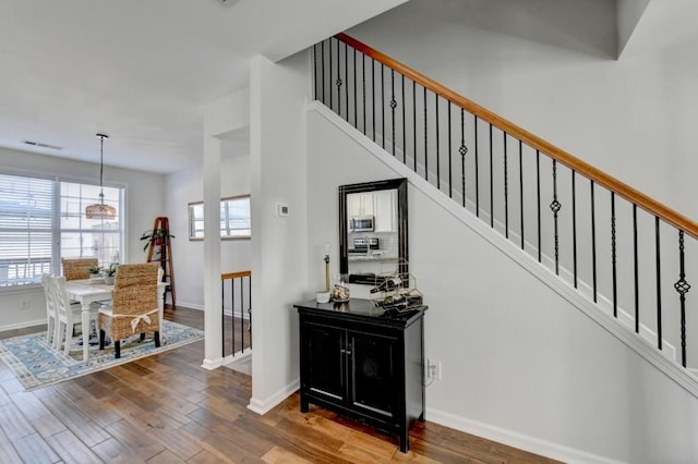
[[[149,335],[149,337],[148,337]],[[113,358],[111,345],[99,350],[96,340],[89,343],[89,356],[83,362],[82,346],[73,345],[68,356],[46,342],[46,332],[14,337],[0,341],[0,359],[12,369],[26,391],[74,379],[109,367],[163,353],[202,340],[204,332],[181,323],[163,321],[160,347],[155,347],[153,333],[141,341],[139,334],[121,341],[121,357]]]

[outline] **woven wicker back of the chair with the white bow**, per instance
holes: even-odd
[[[160,265],[119,265],[113,284],[113,315],[140,315],[157,309]]]

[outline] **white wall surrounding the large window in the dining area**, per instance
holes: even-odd
[[[26,151],[0,148],[0,168],[26,173],[60,175],[81,182],[97,182],[99,164],[72,161],[52,156],[41,156]],[[125,262],[142,262],[145,255],[139,240],[145,229],[153,228],[153,220],[161,216],[164,209],[163,175],[105,166],[105,184],[120,184],[127,187],[125,218],[127,249]],[[20,310],[20,302],[29,300],[29,308]],[[46,306],[40,286],[35,289],[10,290],[0,293],[2,321],[0,330],[46,322]]]

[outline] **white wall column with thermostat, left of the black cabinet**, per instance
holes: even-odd
[[[298,316],[309,297],[304,103],[308,53],[251,63],[253,411],[264,413],[298,388]],[[289,207],[277,217],[276,204]]]

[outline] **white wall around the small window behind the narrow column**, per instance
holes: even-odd
[[[224,151],[226,142],[222,143]],[[201,169],[188,170],[167,176],[165,185],[167,210],[172,244],[177,304],[203,309],[204,307],[204,242],[189,240],[188,205],[203,202],[204,185]],[[221,159],[221,196],[250,194],[250,156],[240,155]],[[249,240],[225,240],[220,244],[222,272],[250,269]]]

